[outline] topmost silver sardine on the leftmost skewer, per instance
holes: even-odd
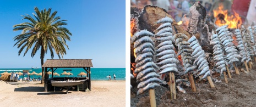
[[[153,33],[149,32],[147,30],[141,30],[141,31],[134,33],[131,42],[135,42],[143,36],[155,37],[155,35]]]

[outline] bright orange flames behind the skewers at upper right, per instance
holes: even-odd
[[[227,10],[223,10],[223,5],[220,5],[218,9],[213,10],[214,17],[217,18],[215,24],[218,26],[228,25],[230,29],[236,29],[237,26],[242,25],[242,19],[238,13],[233,11],[234,15],[228,16]]]

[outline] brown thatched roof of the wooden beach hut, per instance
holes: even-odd
[[[47,59],[42,67],[93,67],[91,59]]]

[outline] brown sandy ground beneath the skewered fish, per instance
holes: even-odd
[[[244,67],[245,69],[245,67]],[[177,99],[170,100],[170,90],[166,87],[155,89],[157,106],[255,106],[256,105],[256,63],[252,70],[246,74],[232,74],[228,84],[224,77],[216,78],[215,88],[210,88],[208,82],[196,83],[197,92],[192,92],[190,87],[182,86],[186,94],[177,91]],[[138,89],[131,89],[130,106],[150,106],[149,92],[135,95]]]

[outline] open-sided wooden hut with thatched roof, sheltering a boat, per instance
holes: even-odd
[[[88,76],[88,88],[91,91],[91,63],[92,59],[47,59],[45,63],[42,65],[43,69],[45,70],[44,74],[47,75],[48,71],[52,71],[52,77],[54,74],[54,71],[58,68],[83,68]],[[54,69],[54,70],[53,70]],[[45,83],[45,91],[47,92],[47,81],[48,76],[45,76],[44,83]]]

